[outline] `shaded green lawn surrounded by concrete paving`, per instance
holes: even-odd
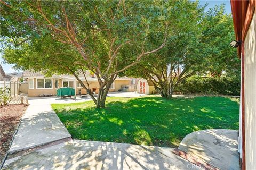
[[[239,129],[239,99],[108,97],[106,109],[93,101],[52,104],[73,139],[177,147],[189,133]]]

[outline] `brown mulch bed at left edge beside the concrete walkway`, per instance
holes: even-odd
[[[12,136],[27,106],[6,105],[0,107],[0,163],[9,149]]]

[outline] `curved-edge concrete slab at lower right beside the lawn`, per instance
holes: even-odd
[[[179,148],[213,166],[225,169],[240,169],[238,156],[238,131],[208,129],[188,134]]]

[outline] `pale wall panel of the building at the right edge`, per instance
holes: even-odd
[[[244,41],[244,103],[246,169],[256,169],[256,16]]]

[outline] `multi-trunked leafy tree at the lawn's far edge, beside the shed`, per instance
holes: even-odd
[[[127,74],[145,78],[162,97],[171,98],[178,84],[192,75],[238,73],[239,60],[229,46],[234,38],[232,19],[225,14],[224,6],[205,12],[205,6],[198,6],[198,2],[169,3],[166,2],[166,9],[171,9],[168,20],[173,24],[167,29],[165,47]],[[154,38],[151,42],[158,43]]]

